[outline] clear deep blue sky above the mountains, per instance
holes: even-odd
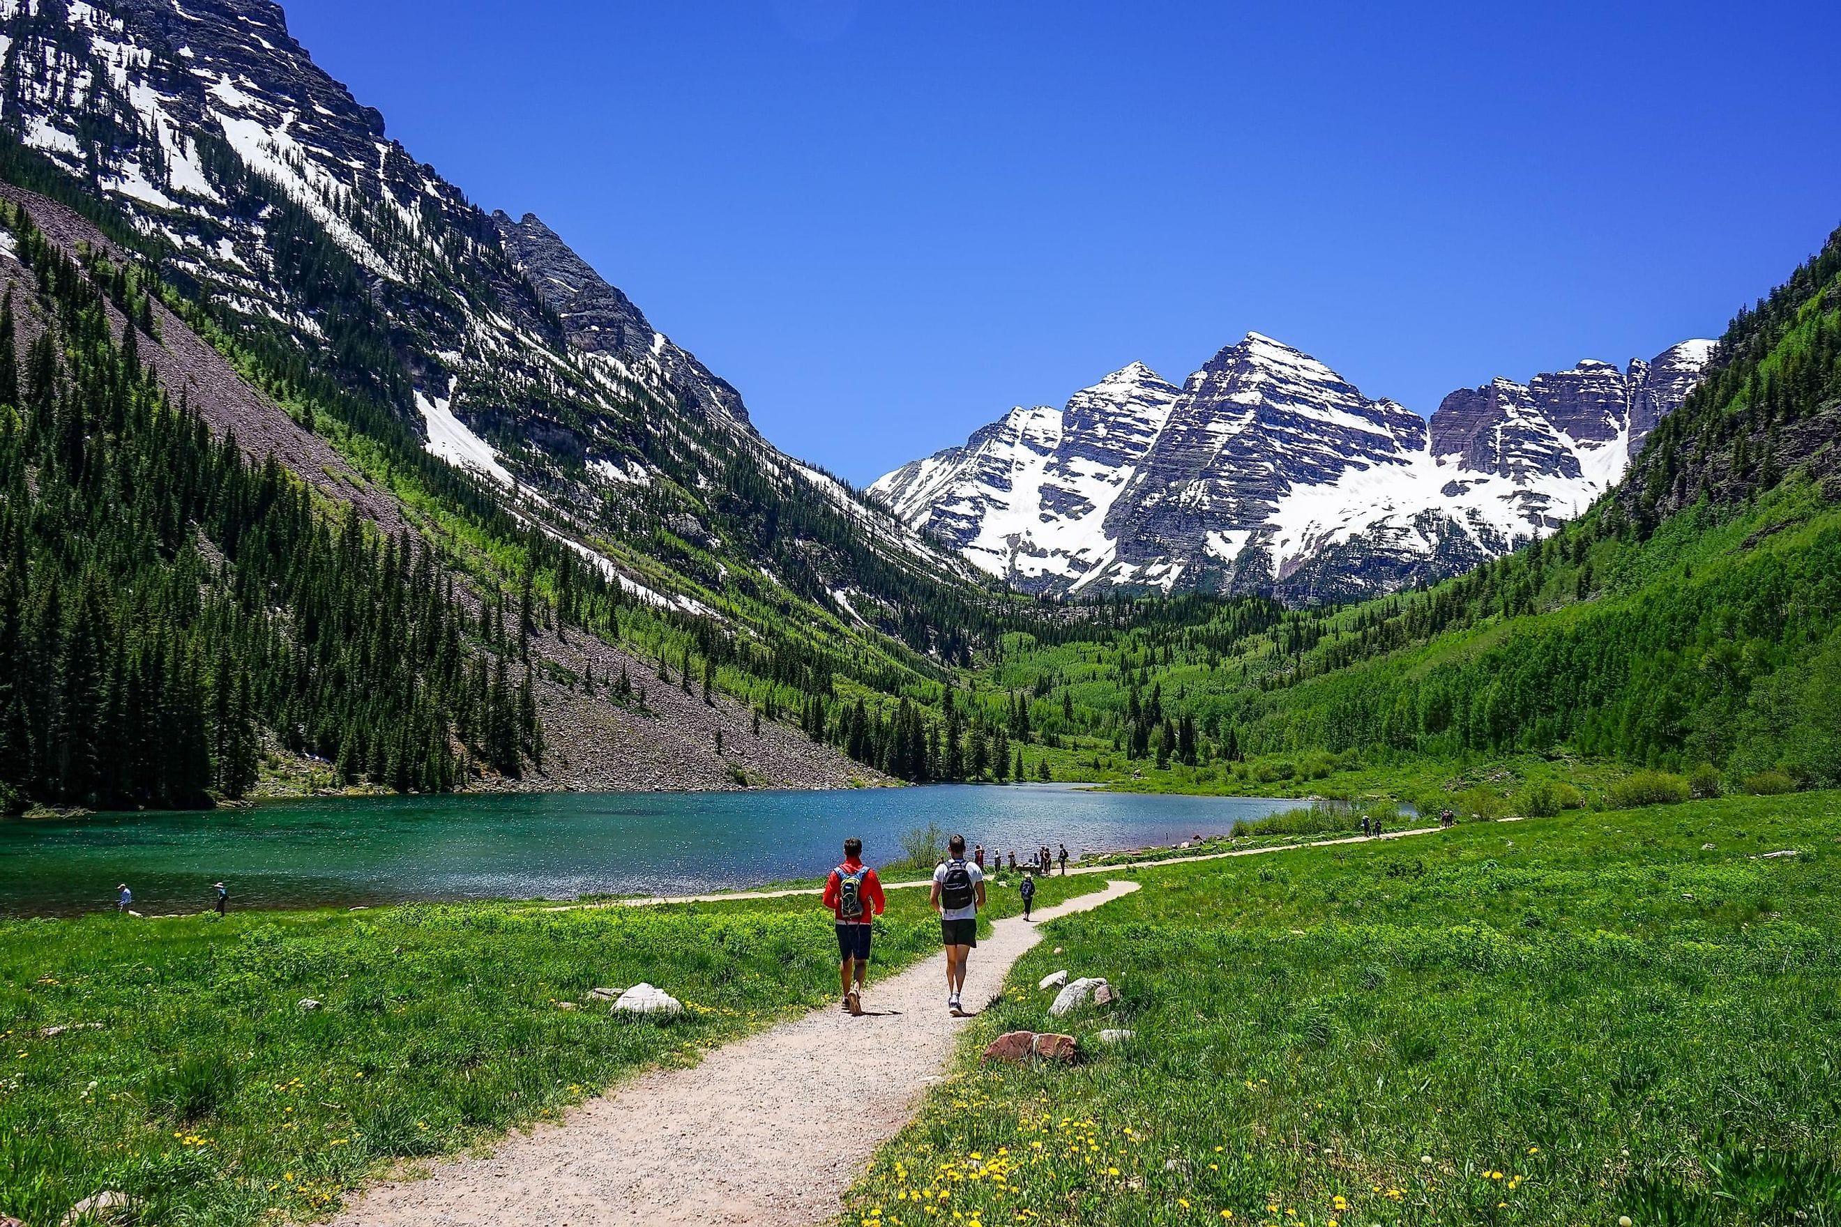
[[[1429,414],[1718,335],[1841,223],[1841,4],[293,0],[867,482],[1245,331]]]

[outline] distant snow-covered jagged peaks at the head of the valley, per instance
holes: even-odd
[[[1425,419],[1248,333],[1182,388],[1132,362],[869,491],[1033,592],[1353,600],[1467,570],[1576,515],[1710,351],[1690,340],[1624,370],[1495,379]]]

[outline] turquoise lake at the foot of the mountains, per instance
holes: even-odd
[[[1094,850],[1222,835],[1296,800],[1149,797],[1066,786],[834,793],[539,793],[274,802],[215,813],[0,822],[0,914],[197,911],[401,900],[692,894],[816,877],[858,835],[871,865],[937,822],[985,848]]]

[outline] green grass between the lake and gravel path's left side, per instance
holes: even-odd
[[[1014,889],[989,911],[1018,911]],[[937,947],[926,890],[891,890],[876,973]],[[114,1188],[142,1223],[324,1218],[401,1161],[834,1001],[836,953],[810,896],[0,922],[0,1214],[52,1227]],[[687,1014],[587,999],[639,980]]]

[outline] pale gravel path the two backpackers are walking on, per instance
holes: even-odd
[[[1108,881],[1036,912],[1079,912],[1138,883]],[[1000,920],[972,951],[965,1003],[983,1006],[1040,929]],[[937,1082],[963,1019],[946,1014],[944,955],[869,986],[865,1017],[836,1006],[716,1049],[694,1069],[644,1074],[514,1133],[490,1159],[381,1185],[335,1227],[626,1227],[764,1223],[806,1227],[838,1214],[869,1155]],[[838,1104],[852,1122],[839,1126]]]

